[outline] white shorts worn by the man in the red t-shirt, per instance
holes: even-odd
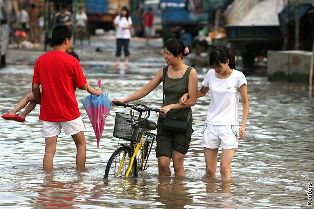
[[[61,128],[63,128],[63,131],[65,132],[66,135],[70,136],[85,130],[85,125],[80,116],[72,121],[63,122],[43,121],[43,125],[45,138],[50,138],[59,135],[61,133]]]

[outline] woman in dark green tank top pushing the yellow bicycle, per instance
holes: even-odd
[[[158,118],[156,137],[156,157],[158,158],[159,175],[171,175],[170,159],[173,159],[175,175],[185,176],[184,157],[189,148],[192,135],[192,111],[197,96],[197,74],[194,68],[183,63],[183,56],[189,49],[180,40],[170,39],[165,42],[164,59],[167,66],[160,68],[155,77],[143,88],[124,99],[113,99],[115,102],[128,103],[141,99],[154,90],[162,81],[164,87],[163,114]],[[179,104],[180,97],[188,93],[186,105]],[[163,100],[163,98],[160,98]],[[163,116],[188,121],[185,133],[162,130]]]

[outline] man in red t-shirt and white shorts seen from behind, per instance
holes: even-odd
[[[75,89],[78,87],[95,95],[100,95],[102,91],[96,91],[88,85],[78,60],[66,53],[72,44],[72,29],[69,26],[55,26],[52,42],[54,50],[41,55],[35,64],[32,85],[35,100],[40,104],[39,119],[43,121],[46,142],[43,167],[44,170],[52,170],[57,138],[63,128],[66,135],[72,136],[77,147],[77,169],[84,170],[85,127],[80,117]]]

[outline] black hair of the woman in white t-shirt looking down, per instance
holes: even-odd
[[[235,69],[235,56],[227,49],[218,47],[210,52],[209,64],[211,66],[220,66],[220,63],[226,64],[227,60],[229,60],[229,67]]]

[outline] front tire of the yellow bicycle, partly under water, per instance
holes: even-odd
[[[126,155],[126,159],[127,160],[125,160],[125,162],[127,162],[127,163],[124,163],[124,165],[123,165],[119,175],[116,176],[116,172],[119,169],[119,165],[121,163],[120,160],[122,158],[122,157],[120,157],[120,154],[122,154],[122,156],[124,154]],[[111,155],[111,157],[110,157],[110,159],[109,159],[109,161],[107,163],[107,166],[106,166],[106,169],[105,169],[104,178],[114,178],[114,177],[125,178],[126,177],[125,174],[126,174],[126,171],[127,171],[128,167],[129,167],[129,163],[131,161],[132,155],[133,155],[133,150],[132,150],[131,147],[122,146],[122,147],[119,147],[118,149],[116,149],[113,152],[113,154]],[[119,157],[119,158],[116,159],[117,157]],[[132,169],[131,169],[131,172],[130,172],[128,177],[130,177],[130,178],[137,177],[137,160],[136,160],[136,157],[134,158]]]

